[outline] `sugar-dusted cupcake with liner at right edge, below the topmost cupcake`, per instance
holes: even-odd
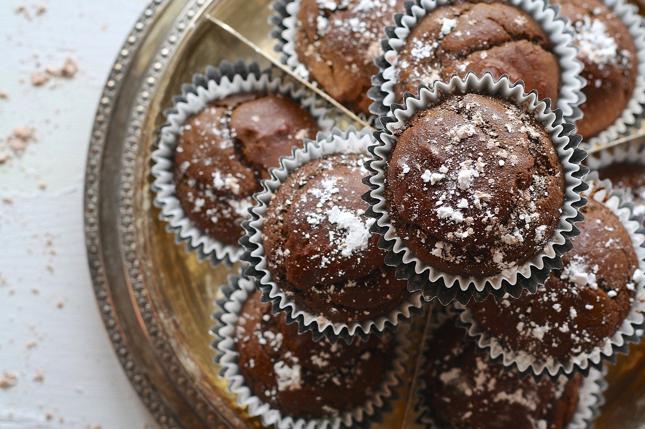
[[[505,366],[535,376],[588,372],[639,339],[635,327],[645,308],[642,218],[608,182],[589,180],[594,187],[582,207],[585,220],[577,225],[581,234],[562,256],[562,269],[533,295],[457,306],[468,335]]]

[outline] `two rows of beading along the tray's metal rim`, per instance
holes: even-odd
[[[128,35],[114,66],[108,76],[104,87],[99,106],[95,116],[94,127],[88,148],[88,157],[85,175],[85,193],[84,193],[84,231],[85,242],[87,247],[88,264],[90,275],[94,285],[94,292],[101,316],[103,317],[108,337],[112,347],[117,354],[117,359],[123,367],[126,376],[130,379],[137,394],[141,397],[144,405],[150,410],[154,419],[162,428],[177,428],[181,424],[172,414],[163,397],[157,392],[154,384],[146,375],[143,366],[137,364],[133,352],[128,348],[128,339],[123,338],[122,331],[119,328],[118,316],[110,300],[108,281],[105,279],[103,258],[101,255],[101,234],[99,233],[99,177],[101,176],[101,159],[103,158],[106,133],[117,95],[123,84],[126,70],[134,59],[134,55],[139,48],[143,37],[146,35],[148,27],[153,23],[155,15],[159,14],[172,0],[151,0],[148,6],[140,15],[134,28]],[[123,240],[124,249],[124,268],[126,269],[128,279],[132,284],[134,295],[137,297],[136,305],[139,314],[143,319],[146,332],[152,339],[155,355],[162,361],[168,374],[174,378],[174,388],[181,394],[187,403],[194,407],[204,423],[209,426],[221,424],[213,410],[213,406],[202,396],[194,386],[188,381],[189,374],[175,352],[170,347],[163,334],[161,325],[157,320],[154,312],[150,309],[150,298],[147,295],[143,285],[141,269],[137,263],[135,251],[135,237],[131,231],[132,215],[134,211],[134,164],[135,155],[138,148],[138,140],[141,132],[140,125],[146,114],[146,106],[150,95],[154,91],[154,86],[161,77],[161,71],[164,64],[170,61],[173,53],[177,49],[177,42],[180,40],[182,33],[190,29],[190,23],[197,12],[212,0],[191,0],[186,2],[186,11],[181,19],[175,21],[166,41],[157,52],[150,68],[143,75],[143,84],[139,88],[139,93],[134,99],[134,109],[128,122],[126,139],[124,140],[124,152],[121,164],[121,181],[119,183],[118,196],[120,200],[121,216],[119,222],[119,231]]]

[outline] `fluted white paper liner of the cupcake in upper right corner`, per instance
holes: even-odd
[[[622,111],[613,124],[599,134],[586,138],[583,148],[597,148],[608,144],[611,140],[628,135],[633,129],[640,128],[638,122],[645,117],[645,28],[644,19],[638,13],[635,5],[625,0],[600,0],[610,8],[627,27],[636,47],[638,73],[636,85],[625,110]]]

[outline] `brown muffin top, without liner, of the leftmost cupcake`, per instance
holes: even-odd
[[[236,244],[261,178],[317,131],[312,115],[282,95],[211,102],[186,120],[177,141],[173,175],[186,216],[215,240]]]

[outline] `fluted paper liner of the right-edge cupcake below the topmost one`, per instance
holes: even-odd
[[[590,196],[590,193],[593,192],[591,198],[606,205],[619,218],[628,234],[630,234],[631,242],[639,258],[638,269],[645,274],[643,216],[633,213],[633,204],[624,200],[622,191],[612,189],[609,180],[599,180],[595,172],[590,173],[586,180],[593,185],[593,189],[586,191],[585,195]],[[640,342],[639,330],[642,329],[645,321],[643,317],[643,312],[645,312],[645,276],[640,281],[635,281],[638,284],[630,312],[616,332],[591,352],[581,353],[567,362],[541,359],[524,351],[516,352],[505,348],[499,340],[490,334],[486,334],[479,327],[470,309],[460,304],[455,304],[453,308],[456,312],[459,312],[457,324],[464,328],[468,338],[477,344],[478,352],[488,354],[491,363],[501,363],[506,368],[517,370],[523,376],[531,375],[536,378],[546,374],[551,377],[559,375],[573,377],[576,372],[581,372],[586,376],[591,368],[602,370],[604,362],[616,363],[618,354],[628,353],[630,343]]]

